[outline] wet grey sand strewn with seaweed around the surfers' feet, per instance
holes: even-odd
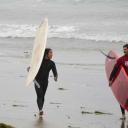
[[[59,66],[58,68],[61,69]],[[63,70],[61,72],[57,83],[50,77],[43,118],[38,116],[33,84],[26,88],[26,77],[18,78],[11,74],[8,81],[3,77],[0,121],[16,128],[121,127],[120,108],[107,87],[105,74],[79,74],[79,71],[67,74]],[[16,77],[15,82],[12,81],[13,77]],[[82,111],[93,114],[82,114]],[[112,115],[97,115],[95,111]]]

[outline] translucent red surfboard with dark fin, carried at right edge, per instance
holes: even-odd
[[[113,50],[110,50],[108,56],[110,56],[111,58],[106,57],[105,69],[107,78],[109,80],[110,74],[118,59],[118,55]],[[128,77],[122,66],[119,68],[113,79],[111,90],[119,104],[124,109],[128,110]]]

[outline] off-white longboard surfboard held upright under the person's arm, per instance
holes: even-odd
[[[37,29],[26,86],[30,85],[39,71],[47,41],[47,29],[48,19],[45,18]]]

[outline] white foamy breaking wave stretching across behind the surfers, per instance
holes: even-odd
[[[1,38],[34,38],[36,25],[0,24]],[[128,35],[117,33],[85,33],[74,26],[49,26],[48,38],[80,39],[92,41],[128,42]]]

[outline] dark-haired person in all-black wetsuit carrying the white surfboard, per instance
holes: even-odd
[[[48,77],[49,72],[52,69],[54,74],[54,80],[57,81],[58,74],[56,70],[55,63],[50,60],[52,58],[52,49],[45,49],[44,58],[42,60],[42,64],[40,69],[35,77],[35,90],[37,94],[37,105],[39,108],[39,115],[43,115],[43,105],[44,105],[44,96],[48,87]],[[27,71],[30,70],[30,67],[27,68]]]

